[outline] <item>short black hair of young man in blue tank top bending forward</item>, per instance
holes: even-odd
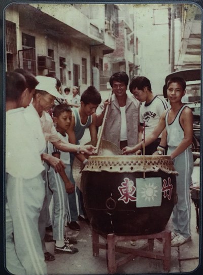
[[[101,95],[94,86],[89,86],[81,95],[80,101],[83,101],[85,105],[101,103]]]

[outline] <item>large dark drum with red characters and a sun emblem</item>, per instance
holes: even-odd
[[[176,203],[170,156],[90,156],[82,172],[84,207],[99,234],[161,232]]]

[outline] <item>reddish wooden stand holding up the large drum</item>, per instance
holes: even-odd
[[[101,235],[106,238],[105,243],[99,243],[99,234],[92,230],[92,251],[93,256],[99,256],[99,249],[105,249],[107,255],[108,273],[116,272],[118,266],[133,260],[134,257],[140,256],[145,258],[157,259],[163,261],[163,269],[170,270],[171,263],[171,231],[162,231],[156,234],[139,235],[139,236],[118,236],[115,234]],[[154,239],[157,238],[162,242],[163,253],[153,252]],[[147,249],[133,249],[123,246],[117,246],[117,242],[130,241],[137,239],[147,239]],[[126,256],[116,260],[115,252],[124,253]]]

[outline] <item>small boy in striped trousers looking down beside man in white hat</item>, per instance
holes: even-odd
[[[65,132],[69,129],[72,120],[72,111],[67,104],[57,105],[53,110],[53,120],[59,139],[64,143],[69,143],[69,136]],[[48,153],[58,156],[65,164],[64,173],[66,180],[55,172],[53,167],[48,171],[49,187],[53,192],[54,199],[54,219],[53,219],[53,239],[55,240],[55,253],[78,252],[77,248],[70,246],[67,238],[64,237],[64,223],[67,214],[68,194],[76,192],[75,185],[69,180],[71,173],[70,153],[58,150],[51,142],[48,142]]]

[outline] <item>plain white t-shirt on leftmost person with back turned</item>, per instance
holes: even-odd
[[[6,172],[15,178],[33,179],[44,170],[39,144],[27,122],[24,108],[6,112]]]

